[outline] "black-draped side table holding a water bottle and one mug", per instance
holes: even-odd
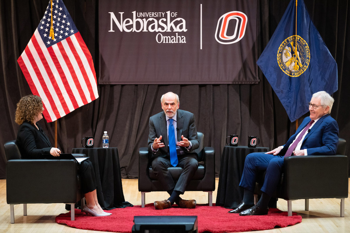
[[[133,206],[125,202],[118,148],[73,148],[72,153],[90,157],[96,175],[97,199],[104,210]]]

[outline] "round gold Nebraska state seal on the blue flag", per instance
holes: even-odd
[[[299,77],[310,64],[309,45],[298,35],[289,36],[278,48],[277,62],[285,74]]]

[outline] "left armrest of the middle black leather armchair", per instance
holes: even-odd
[[[148,190],[150,185],[152,185],[148,167],[148,148],[141,147],[139,149],[139,191]]]

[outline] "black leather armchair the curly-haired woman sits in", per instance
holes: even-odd
[[[14,223],[14,208],[23,204],[27,215],[27,203],[66,203],[71,205],[71,220],[74,220],[74,205],[81,199],[80,177],[75,160],[21,159],[15,140],[4,145],[6,163],[6,199],[10,204],[11,223]],[[76,156],[84,156],[83,154]],[[83,205],[82,205],[83,206]]]

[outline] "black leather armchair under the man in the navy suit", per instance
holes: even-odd
[[[288,202],[288,216],[292,216],[292,201],[296,199],[305,199],[305,210],[309,210],[310,198],[339,198],[340,216],[344,217],[344,198],[348,197],[348,157],[345,156],[345,148],[346,141],[339,138],[336,155],[284,158],[280,183],[273,196]],[[261,194],[264,176],[260,174],[255,194]]]

